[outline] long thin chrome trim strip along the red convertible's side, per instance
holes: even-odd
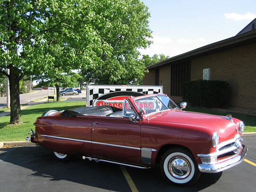
[[[65,140],[72,140],[72,141],[80,141],[80,142],[85,142],[85,143],[93,143],[93,144],[99,144],[99,145],[105,145],[105,146],[116,146],[116,147],[122,147],[122,148],[128,148],[128,149],[135,149],[135,150],[151,150],[151,151],[157,151],[156,149],[151,149],[151,148],[138,148],[138,147],[133,147],[133,146],[120,146],[120,145],[114,145],[114,144],[109,144],[109,143],[100,143],[100,142],[95,142],[95,141],[87,141],[87,140],[81,140],[81,139],[73,139],[73,138],[67,138],[67,137],[56,137],[56,136],[49,136],[49,135],[40,135],[42,137],[50,137],[50,138],[58,138],[58,139],[65,139]]]

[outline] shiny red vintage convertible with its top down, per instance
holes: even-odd
[[[228,116],[183,111],[166,95],[125,99],[123,108],[82,107],[49,110],[31,129],[31,142],[60,160],[83,159],[137,168],[160,164],[163,177],[191,185],[201,172],[217,173],[243,161],[244,123]],[[28,138],[29,139],[29,138]]]

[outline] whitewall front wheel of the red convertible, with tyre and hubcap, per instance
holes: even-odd
[[[164,178],[176,185],[192,185],[201,174],[190,151],[180,147],[165,152],[160,168]]]

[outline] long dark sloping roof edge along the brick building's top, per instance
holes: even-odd
[[[188,60],[194,57],[209,55],[211,53],[216,53],[222,50],[227,50],[235,46],[243,46],[250,43],[256,42],[256,30],[249,31],[234,37],[230,37],[207,46],[202,46],[200,48],[194,49],[192,51],[183,53],[181,55],[176,55],[164,61],[157,62],[155,64],[148,65],[147,69],[152,69],[160,67],[162,65],[170,64],[175,61]]]

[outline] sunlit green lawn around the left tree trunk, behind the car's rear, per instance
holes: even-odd
[[[84,101],[59,101],[33,105],[21,110],[23,123],[21,125],[9,125],[10,115],[0,117],[0,141],[25,141],[27,133],[32,128],[35,131],[37,117],[46,110],[67,110],[85,106]]]

